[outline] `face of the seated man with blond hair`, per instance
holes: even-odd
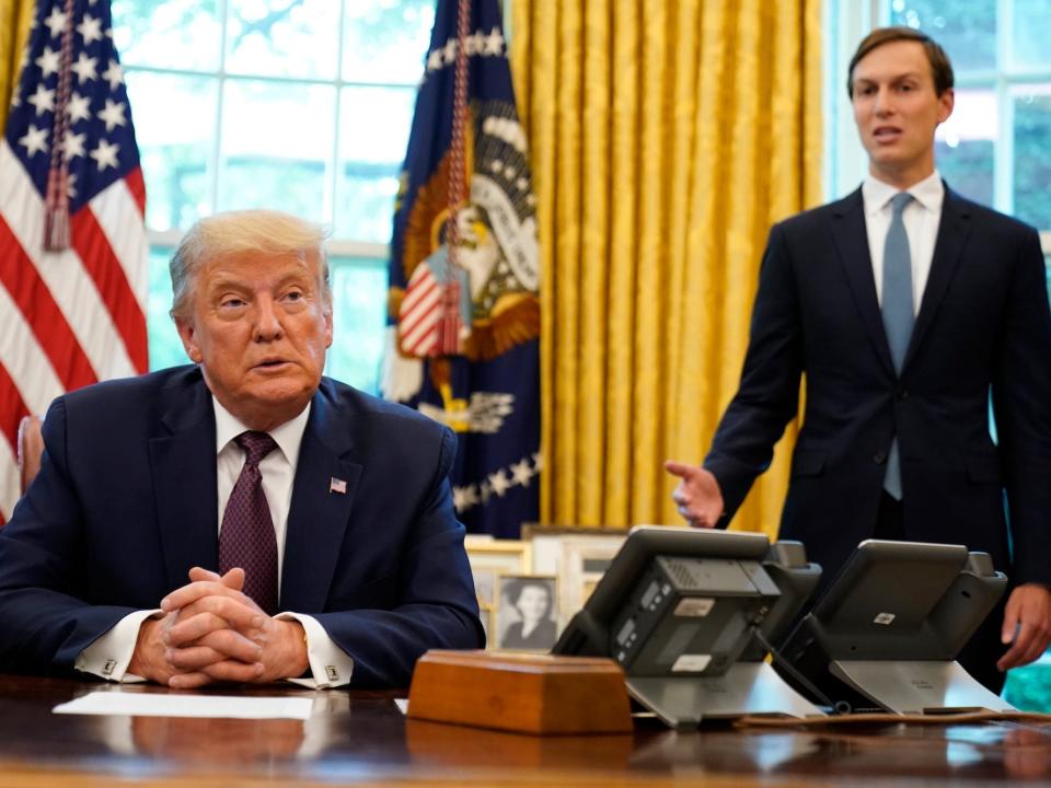
[[[317,390],[332,345],[316,255],[243,252],[205,263],[176,326],[227,410],[252,429],[285,424]]]

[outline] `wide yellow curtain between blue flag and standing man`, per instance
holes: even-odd
[[[820,0],[515,0],[541,241],[544,522],[681,522],[771,223],[821,182]],[[790,426],[735,528],[774,533]]]

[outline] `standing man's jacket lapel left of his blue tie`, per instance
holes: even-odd
[[[832,206],[832,233],[836,250],[846,271],[851,291],[862,323],[868,332],[876,355],[887,370],[893,374],[894,364],[887,345],[887,334],[879,313],[879,300],[876,297],[876,280],[873,277],[873,262],[868,251],[868,232],[865,229],[865,207],[862,190],[844,197]]]

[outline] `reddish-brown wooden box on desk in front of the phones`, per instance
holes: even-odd
[[[624,673],[590,657],[428,651],[416,663],[408,716],[536,734],[632,730]]]

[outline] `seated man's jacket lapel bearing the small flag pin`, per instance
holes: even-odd
[[[344,459],[351,449],[350,419],[334,405],[323,382],[314,394],[296,467],[285,532],[281,610],[325,610],[361,475],[359,464]],[[346,483],[346,491],[340,483]]]

